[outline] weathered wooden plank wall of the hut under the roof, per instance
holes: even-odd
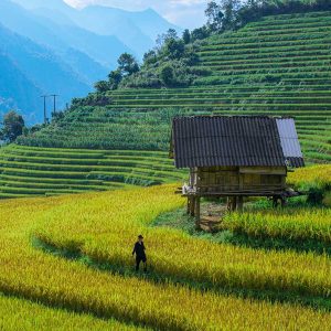
[[[200,193],[265,192],[286,188],[286,167],[207,167],[190,171],[190,186]]]

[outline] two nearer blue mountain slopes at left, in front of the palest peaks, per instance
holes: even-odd
[[[7,58],[0,71],[0,84],[6,86],[0,90],[0,115],[19,109],[30,124],[42,120],[41,94],[58,94],[63,108],[90,92],[115,66],[115,58],[130,51],[116,38],[95,35],[74,23],[67,28],[53,23],[7,0],[0,1],[0,52]],[[15,74],[7,83],[9,63],[14,63]],[[19,86],[23,77],[26,82]]]

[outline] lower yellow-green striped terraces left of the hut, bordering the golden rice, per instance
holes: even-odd
[[[147,186],[182,178],[164,152],[14,145],[0,150],[0,199]]]

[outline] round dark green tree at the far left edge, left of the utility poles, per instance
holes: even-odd
[[[3,128],[0,131],[0,138],[4,141],[13,142],[23,134],[24,127],[23,117],[14,110],[10,110],[3,117]]]

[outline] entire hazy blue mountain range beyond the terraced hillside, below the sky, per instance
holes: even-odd
[[[58,94],[63,108],[105,78],[121,53],[141,60],[170,28],[179,30],[151,9],[0,0],[0,115],[14,108],[28,122],[41,121],[42,94]]]

